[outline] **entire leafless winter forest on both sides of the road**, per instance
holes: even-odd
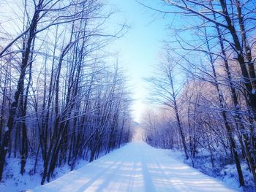
[[[187,164],[213,177],[233,165],[239,185],[255,190],[256,1],[137,4],[169,23],[159,62],[144,78],[145,141],[182,150]],[[132,88],[108,52],[129,27],[109,27],[116,10],[108,1],[0,5],[0,182],[13,159],[21,175],[39,174],[44,185],[59,167],[76,169],[130,142],[138,126]]]

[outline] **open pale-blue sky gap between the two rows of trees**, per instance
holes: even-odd
[[[112,49],[118,52],[118,61],[127,69],[129,81],[133,85],[133,118],[140,122],[147,96],[146,82],[143,77],[150,77],[154,65],[159,62],[162,40],[165,39],[167,18],[143,7],[135,0],[110,0],[119,12],[113,17],[113,23],[127,22],[131,28],[121,39],[113,43]],[[160,6],[160,5],[156,5]]]

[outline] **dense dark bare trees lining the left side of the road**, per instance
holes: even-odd
[[[74,169],[80,159],[94,161],[129,142],[129,91],[105,50],[124,30],[105,30],[113,12],[92,0],[3,6],[0,180],[8,158],[20,158],[20,174],[27,158],[33,173],[42,161],[44,184],[57,166]]]

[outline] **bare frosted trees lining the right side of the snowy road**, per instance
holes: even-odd
[[[162,112],[145,117],[147,142],[182,147],[192,160],[204,148],[213,167],[222,154],[241,186],[246,162],[256,183],[255,1],[162,3],[173,31],[148,79]]]

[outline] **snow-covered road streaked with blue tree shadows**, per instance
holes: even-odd
[[[132,142],[33,191],[234,191],[144,142]]]

